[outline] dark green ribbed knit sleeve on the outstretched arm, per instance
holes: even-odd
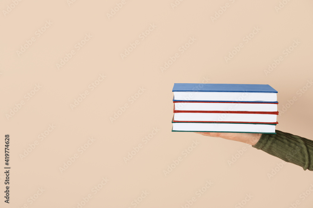
[[[286,162],[313,171],[313,141],[279,130],[276,134],[262,134],[252,147],[260,149]]]

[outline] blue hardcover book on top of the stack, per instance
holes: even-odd
[[[175,83],[173,101],[277,103],[270,85]]]

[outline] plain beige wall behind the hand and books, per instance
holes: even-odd
[[[276,129],[312,139],[313,88],[298,90],[312,79],[313,2],[186,0],[172,8],[174,0],[126,0],[109,19],[116,3],[121,1],[69,5],[66,0],[25,0],[11,11],[12,0],[1,2],[0,172],[4,135],[10,134],[11,174],[9,205],[3,202],[0,174],[0,207],[80,207],[88,194],[92,198],[84,208],[188,207],[192,197],[196,201],[190,207],[240,207],[246,194],[253,197],[244,207],[290,207],[296,200],[297,207],[311,207],[313,193],[307,191],[304,200],[300,195],[313,184],[312,172],[291,163],[280,168],[282,160],[244,143],[171,132],[171,119],[174,83],[269,84],[279,92]],[[284,7],[276,11],[279,5]],[[222,14],[212,21],[218,11]],[[36,31],[46,21],[52,24],[38,37]],[[142,40],[139,35],[150,24],[156,27]],[[245,42],[254,27],[260,31]],[[86,33],[92,37],[77,50],[75,44]],[[32,37],[36,41],[18,56]],[[190,37],[196,40],[181,53]],[[120,54],[136,40],[140,44],[122,60]],[[294,40],[300,43],[285,56]],[[244,47],[226,63],[224,57],[240,43]],[[58,70],[56,64],[71,50],[75,54]],[[160,67],[175,53],[179,57],[162,72]],[[279,56],[283,60],[266,74]],[[105,79],[91,91],[88,86],[102,73]],[[42,87],[27,100],[24,95],[34,93],[36,84]],[[132,103],[131,96],[142,87],[145,91]],[[90,94],[72,110],[70,104],[85,90]],[[21,101],[25,104],[7,119]],[[125,104],[125,112],[111,122]],[[38,135],[48,133],[49,124],[55,128],[41,141]],[[158,132],[144,143],[153,128]],[[95,141],[80,154],[89,137]],[[38,145],[21,159],[36,140]],[[184,157],[182,151],[193,141],[198,146]],[[140,143],[142,148],[126,163],[123,157]],[[243,147],[247,151],[229,166]],[[59,168],[74,154],[79,157],[61,173]],[[180,156],[182,161],[165,176],[163,171]],[[269,178],[275,168],[279,171]],[[105,177],[107,184],[92,192]],[[198,197],[196,191],[207,180],[213,185]],[[37,198],[38,188],[44,192]],[[142,191],[149,194],[134,204]]]

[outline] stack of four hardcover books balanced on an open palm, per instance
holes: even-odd
[[[173,132],[275,134],[277,91],[269,85],[175,83]]]

